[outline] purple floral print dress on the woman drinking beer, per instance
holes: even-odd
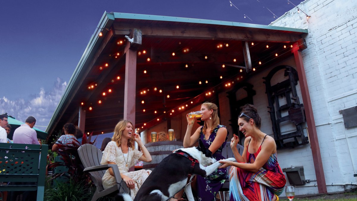
[[[213,140],[215,140],[215,138],[216,138],[218,129],[222,128],[222,127],[226,128],[223,125],[218,125],[213,130],[213,132],[210,134],[210,137],[208,139],[205,139],[205,134],[202,131],[203,127],[201,127],[201,133],[200,133],[201,137],[200,138],[206,148],[210,147]],[[223,149],[223,147],[226,146],[227,138],[228,138],[228,131],[227,131],[227,136],[226,136],[225,142],[223,142],[221,147],[218,148],[217,151],[213,154],[213,158],[215,158],[217,161],[219,161],[221,159],[225,159],[222,156],[222,149]],[[197,175],[198,200],[201,200],[201,201],[213,200],[227,178],[228,178],[227,168],[217,169],[214,172],[212,172],[212,174],[208,175],[207,177],[201,177],[201,176]]]

